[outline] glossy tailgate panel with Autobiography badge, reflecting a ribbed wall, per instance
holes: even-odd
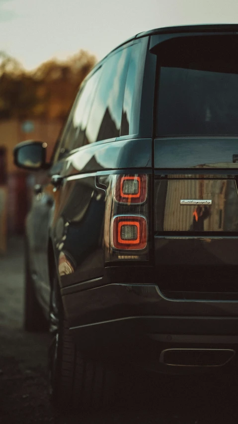
[[[171,178],[173,177],[173,178]],[[180,178],[182,177],[182,178]],[[161,232],[206,232],[215,235],[221,232],[238,231],[238,191],[236,179],[184,178],[184,175],[168,175],[167,179],[155,180],[155,231]],[[214,177],[214,176],[213,176]],[[181,205],[181,199],[203,199],[211,202],[204,206],[201,216],[196,217],[197,207]]]

